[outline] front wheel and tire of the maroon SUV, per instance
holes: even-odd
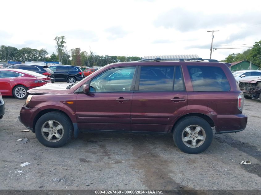
[[[59,129],[56,129],[57,127]],[[73,125],[71,120],[60,112],[44,114],[37,120],[35,125],[35,133],[39,142],[51,148],[65,145],[71,139],[72,132]]]

